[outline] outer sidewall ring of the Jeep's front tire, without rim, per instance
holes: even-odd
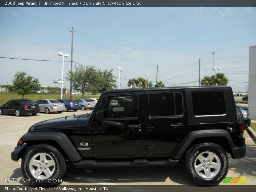
[[[36,155],[37,153],[46,153],[52,156],[54,162],[55,162],[55,170],[51,177],[48,179],[42,180],[35,178],[29,171],[29,161],[31,158]],[[59,154],[50,148],[38,146],[36,148],[28,149],[26,154],[23,156],[21,161],[21,170],[23,175],[26,177],[26,179],[32,180],[33,182],[36,182],[36,184],[44,184],[44,185],[54,185],[54,183],[47,183],[47,180],[53,180],[53,179],[59,179],[61,167],[60,167],[60,156]],[[38,182],[39,181],[39,182]]]

